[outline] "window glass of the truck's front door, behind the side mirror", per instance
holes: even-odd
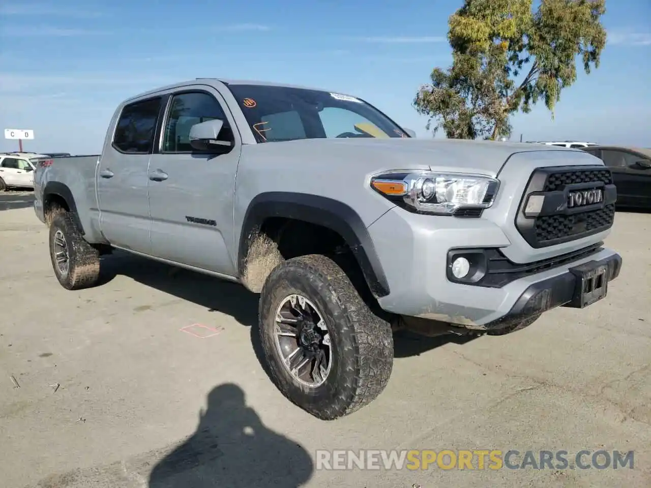
[[[224,122],[217,139],[232,141],[229,121],[214,96],[204,92],[174,95],[163,131],[163,152],[192,152],[191,127],[215,119]]]

